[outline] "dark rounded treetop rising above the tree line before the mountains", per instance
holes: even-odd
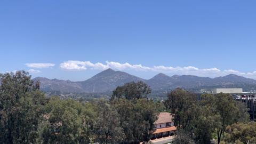
[[[147,94],[151,93],[150,87],[144,82],[131,82],[123,86],[118,86],[112,95],[114,98],[125,98],[128,100],[146,98]]]

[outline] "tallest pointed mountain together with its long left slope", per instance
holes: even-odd
[[[146,81],[127,74],[123,71],[115,71],[107,69],[101,73],[82,82],[63,81],[59,79],[48,79],[44,77],[36,77],[34,81],[41,82],[41,90],[43,91],[60,91],[60,92],[110,92],[117,86],[124,85],[128,82]]]

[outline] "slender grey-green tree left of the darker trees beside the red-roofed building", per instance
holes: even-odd
[[[124,139],[119,114],[106,100],[96,104],[97,118],[94,124],[95,141],[99,143],[118,143]]]

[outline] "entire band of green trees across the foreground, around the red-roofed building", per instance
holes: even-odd
[[[256,124],[229,94],[176,89],[164,102],[147,99],[143,82],[127,83],[112,98],[46,98],[25,71],[0,75],[0,143],[130,143],[150,140],[162,111],[178,127],[173,143],[255,143]]]

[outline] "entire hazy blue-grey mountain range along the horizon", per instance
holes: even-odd
[[[137,76],[130,75],[123,71],[115,71],[107,69],[101,73],[82,82],[71,82],[60,79],[48,79],[45,77],[36,77],[34,81],[41,82],[41,90],[43,91],[60,91],[70,93],[83,92],[111,92],[117,86],[124,85],[128,82],[143,81],[147,83],[153,91],[172,90],[176,87],[184,89],[199,90],[205,87],[255,87],[256,80],[230,74],[222,77],[198,77],[193,75],[173,75],[167,76],[163,73],[157,74],[153,78],[143,79]],[[251,89],[251,88],[250,88]]]

